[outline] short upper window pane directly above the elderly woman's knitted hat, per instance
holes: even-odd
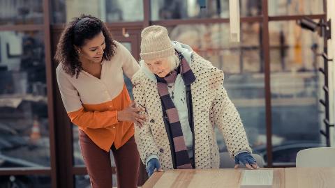
[[[229,18],[229,0],[207,0],[206,8],[200,9],[197,0],[151,1],[151,20],[190,18]],[[241,17],[262,14],[262,1],[241,0]]]

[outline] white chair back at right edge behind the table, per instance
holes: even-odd
[[[297,153],[297,167],[335,167],[335,147],[308,148]]]

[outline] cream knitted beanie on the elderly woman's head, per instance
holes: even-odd
[[[168,36],[168,30],[163,26],[148,26],[141,33],[141,58],[151,60],[174,54],[174,47]]]

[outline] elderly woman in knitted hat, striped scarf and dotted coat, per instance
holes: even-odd
[[[135,126],[135,141],[148,174],[218,168],[214,126],[236,168],[241,162],[258,169],[239,113],[223,88],[223,72],[188,45],[172,42],[163,26],[149,26],[141,37],[141,68],[132,81],[147,122]]]

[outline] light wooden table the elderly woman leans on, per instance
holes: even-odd
[[[267,169],[269,170],[269,169]],[[273,188],[335,187],[335,168],[276,168]],[[142,188],[239,187],[246,169],[192,169],[155,172]],[[260,169],[262,171],[262,169]]]

